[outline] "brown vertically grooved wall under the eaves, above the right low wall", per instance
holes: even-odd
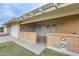
[[[58,19],[58,33],[79,34],[79,15]]]

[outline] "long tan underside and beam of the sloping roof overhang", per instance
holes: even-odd
[[[64,17],[64,16],[70,16],[70,15],[75,15],[79,14],[79,4],[71,4],[62,8],[57,8],[53,11],[43,13],[28,19],[24,19],[21,24],[28,24],[28,23],[33,23],[33,22],[39,22],[39,21],[46,21],[50,19],[55,19],[59,17]]]

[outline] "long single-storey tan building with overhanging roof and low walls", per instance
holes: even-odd
[[[11,36],[79,54],[78,3],[49,3],[5,25]]]

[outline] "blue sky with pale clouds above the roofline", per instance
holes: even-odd
[[[44,3],[0,3],[0,25],[42,5]]]

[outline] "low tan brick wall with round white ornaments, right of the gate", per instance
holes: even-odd
[[[47,45],[79,53],[79,35],[48,33]]]

